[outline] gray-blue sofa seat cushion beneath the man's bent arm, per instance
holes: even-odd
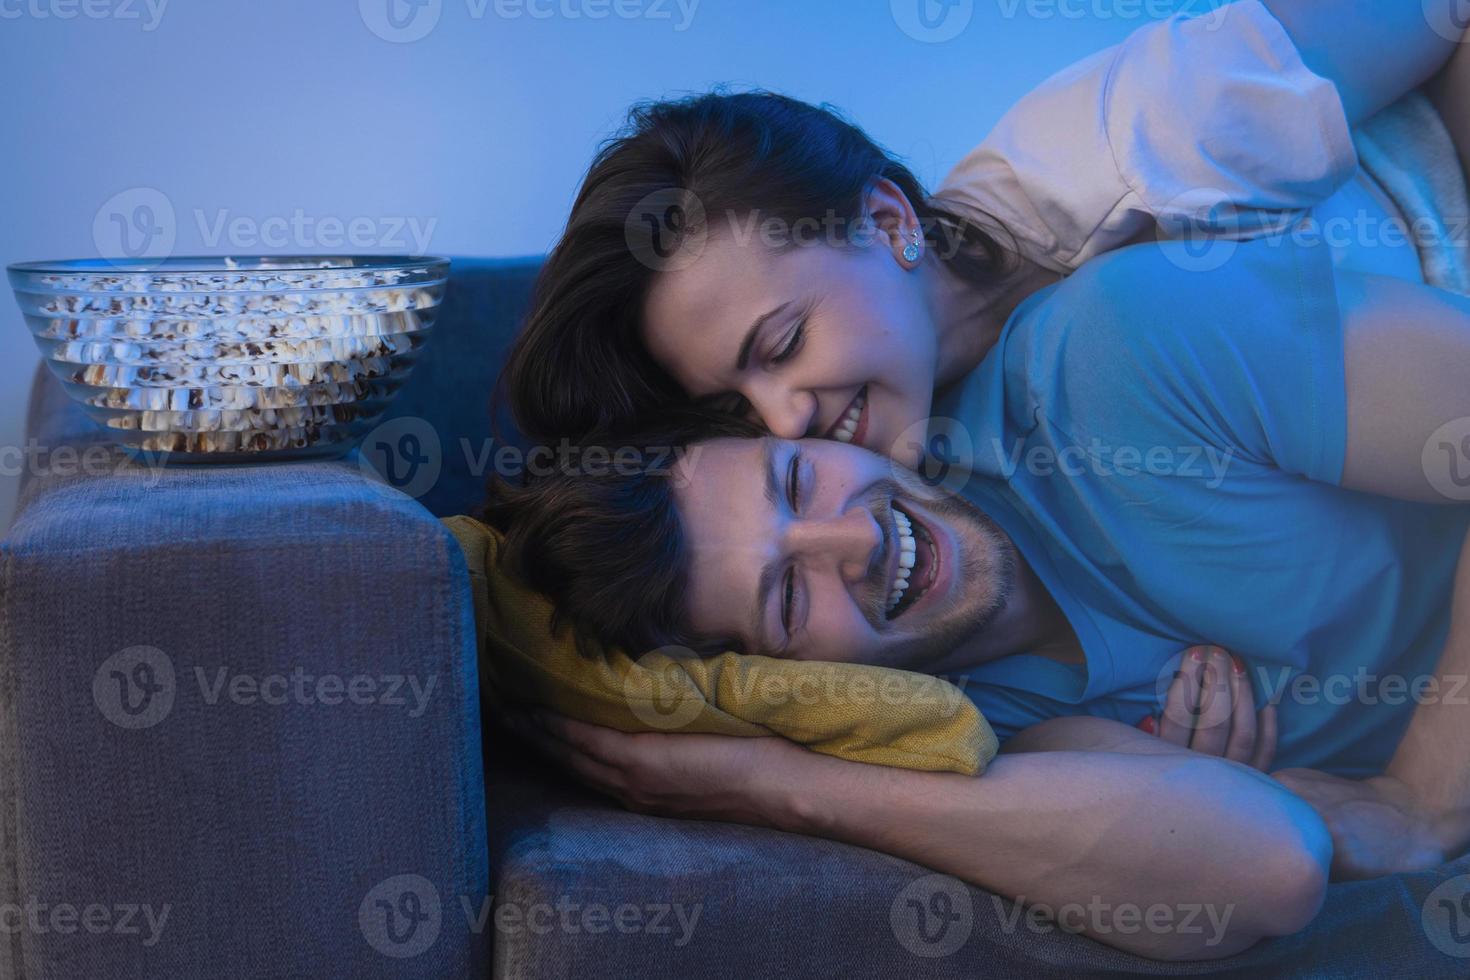
[[[528,758],[498,732],[487,743],[495,976],[1448,980],[1470,964],[1470,915],[1449,924],[1439,904],[1470,890],[1470,858],[1333,884],[1295,936],[1170,964],[1035,924],[1013,902],[866,848],[634,814]]]

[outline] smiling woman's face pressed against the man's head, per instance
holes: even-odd
[[[938,339],[906,241],[872,232],[773,248],[714,226],[700,256],[654,278],[644,344],[695,400],[739,394],[772,433],[919,460]]]

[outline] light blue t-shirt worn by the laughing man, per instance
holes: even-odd
[[[935,403],[973,448],[966,494],[1057,598],[1086,667],[969,671],[1004,741],[1064,714],[1138,723],[1185,646],[1276,699],[1276,767],[1382,771],[1430,691],[1470,508],[1342,489],[1342,322],[1326,247],[1257,241],[1094,259],[1016,310]],[[1405,392],[1410,397],[1411,392]],[[1161,682],[1160,677],[1164,680]]]

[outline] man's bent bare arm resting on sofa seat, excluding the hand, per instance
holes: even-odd
[[[788,830],[908,858],[1157,958],[1297,932],[1330,864],[1310,807],[1182,751],[1001,755],[979,779],[823,758],[788,799]]]

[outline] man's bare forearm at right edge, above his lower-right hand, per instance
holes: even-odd
[[[1460,550],[1449,616],[1449,638],[1435,669],[1441,682],[1470,676],[1470,538]],[[1441,685],[1442,689],[1446,686]],[[1470,705],[1460,698],[1441,698],[1414,708],[1386,773],[1408,786],[1419,802],[1436,815],[1436,836],[1444,842],[1446,858],[1470,846],[1467,757]]]

